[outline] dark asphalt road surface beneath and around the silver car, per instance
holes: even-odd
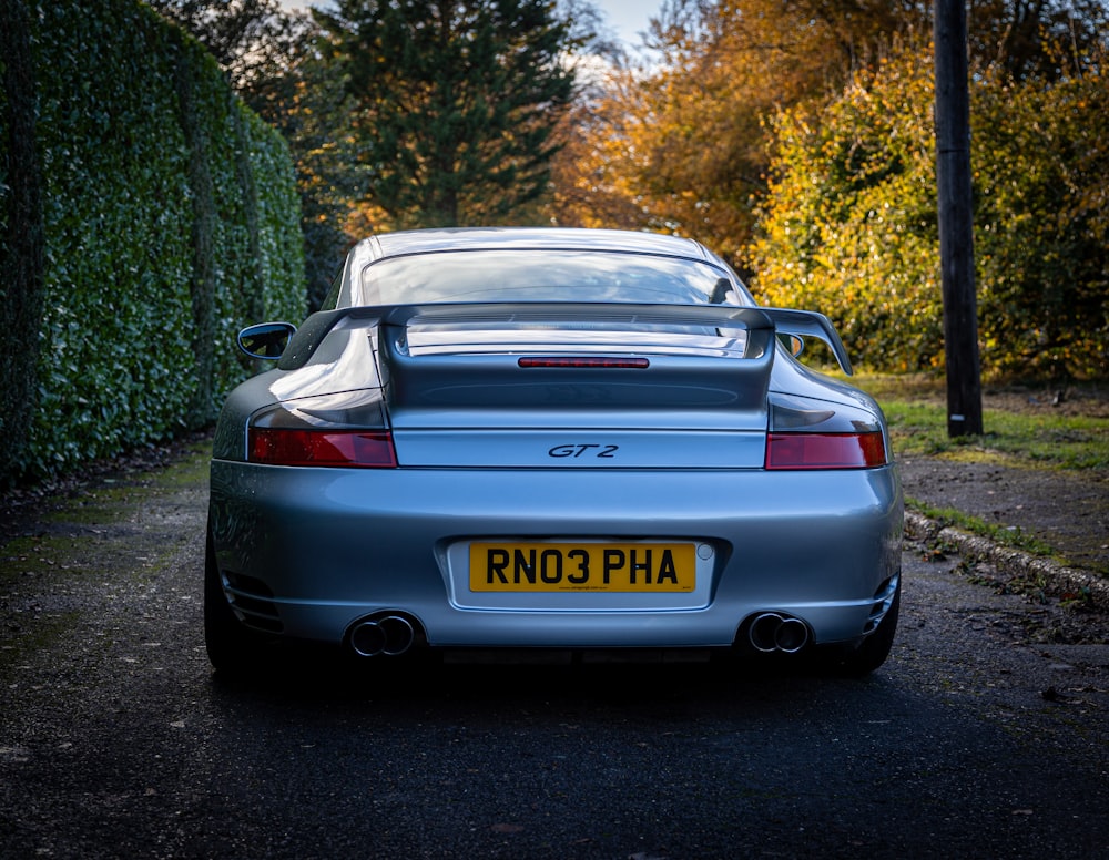
[[[957,559],[907,549],[899,639],[862,680],[370,663],[231,683],[202,643],[195,474],[88,495],[4,549],[3,858],[1109,857],[1103,618]]]

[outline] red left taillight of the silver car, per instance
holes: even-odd
[[[391,469],[397,464],[387,430],[306,430],[252,427],[248,460],[269,465],[339,465]]]

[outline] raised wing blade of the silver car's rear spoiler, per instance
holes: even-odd
[[[831,320],[811,310],[785,308],[739,307],[735,305],[637,305],[623,303],[464,303],[442,305],[393,305],[340,308],[313,314],[289,340],[277,367],[296,370],[304,367],[323,342],[327,332],[340,320],[374,320],[394,331],[403,329],[409,320],[419,317],[425,321],[466,321],[490,317],[520,320],[558,319],[581,315],[596,319],[642,320],[643,322],[699,326],[742,326],[747,329],[746,355],[764,355],[775,334],[815,337],[826,344],[843,372],[851,376],[847,350]],[[399,334],[399,332],[397,332]],[[393,338],[390,338],[391,340]]]

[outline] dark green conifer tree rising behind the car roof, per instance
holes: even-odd
[[[496,224],[548,191],[577,42],[550,0],[340,0],[317,12],[388,227]]]

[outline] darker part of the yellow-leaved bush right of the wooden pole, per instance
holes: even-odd
[[[1109,375],[1106,59],[1087,54],[1085,69],[1050,81],[999,69],[976,76],[979,329],[997,370]]]

